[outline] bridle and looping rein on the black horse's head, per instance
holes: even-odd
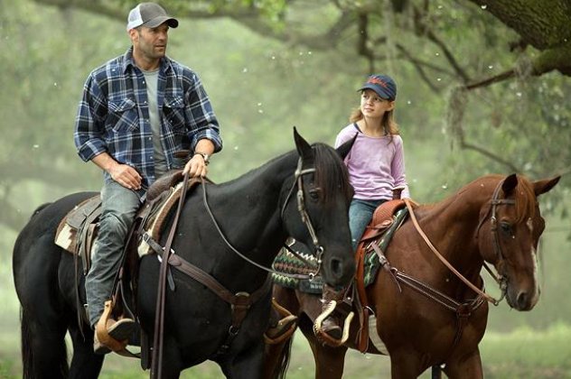
[[[314,255],[317,259],[317,268],[315,269],[314,273],[298,274],[298,273],[276,272],[276,270],[273,270],[269,267],[266,267],[263,264],[257,263],[255,261],[251,260],[250,258],[248,258],[248,256],[246,256],[245,254],[240,253],[232,244],[229,243],[229,240],[226,238],[226,236],[224,236],[224,233],[222,232],[220,225],[218,224],[218,222],[216,221],[216,218],[212,214],[212,211],[211,211],[211,208],[208,204],[208,199],[206,196],[206,184],[205,184],[204,180],[201,180],[202,181],[202,199],[204,202],[204,207],[206,208],[207,213],[211,217],[212,223],[216,227],[216,230],[218,230],[220,237],[222,238],[224,243],[229,247],[229,249],[232,250],[235,254],[239,255],[240,258],[242,258],[246,262],[256,266],[257,268],[266,271],[267,273],[275,273],[275,274],[279,274],[281,276],[286,276],[286,277],[294,278],[294,279],[313,280],[314,277],[321,271],[321,263],[322,263],[324,249],[323,249],[323,246],[319,244],[319,240],[317,238],[317,235],[315,234],[314,225],[312,224],[311,218],[309,217],[309,214],[306,211],[305,199],[304,199],[303,176],[306,174],[314,173],[316,170],[314,167],[309,168],[309,169],[302,169],[303,163],[304,163],[303,159],[300,156],[298,161],[297,161],[297,168],[295,169],[295,172],[294,172],[294,181],[292,183],[292,187],[287,192],[286,200],[284,201],[284,204],[283,204],[281,211],[280,211],[280,217],[283,219],[284,212],[286,211],[287,203],[292,198],[292,194],[294,192],[295,185],[297,185],[297,194],[295,197],[297,199],[297,210],[299,211],[299,214],[302,217],[302,221],[304,222],[305,227],[307,227],[307,230],[308,230],[310,236],[312,237],[312,240],[314,243]],[[284,245],[284,246],[290,252],[292,251],[292,249],[288,245]]]

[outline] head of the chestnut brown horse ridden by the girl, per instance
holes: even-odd
[[[508,304],[516,310],[531,310],[538,302],[536,250],[545,228],[538,196],[559,179],[531,182],[512,174],[498,182],[489,205],[482,208],[480,251],[500,273]]]

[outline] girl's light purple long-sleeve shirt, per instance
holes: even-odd
[[[335,146],[357,139],[345,157],[349,178],[355,189],[355,199],[392,199],[393,189],[403,188],[401,198],[410,198],[405,175],[405,152],[402,138],[370,137],[360,132],[355,124],[345,126],[337,134]]]

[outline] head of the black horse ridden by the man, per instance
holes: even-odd
[[[348,217],[352,187],[342,161],[352,141],[335,151],[323,143],[310,145],[295,129],[294,136],[299,159],[282,196],[286,234],[314,251],[325,282],[345,285],[355,272]]]

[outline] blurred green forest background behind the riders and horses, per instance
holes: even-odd
[[[542,298],[531,312],[493,308],[482,356],[489,377],[529,377],[529,370],[571,377],[571,350],[563,347],[571,337],[568,1],[162,4],[181,21],[168,54],[198,72],[220,119],[224,149],[212,157],[211,180],[234,179],[293,149],[294,125],[310,142],[333,143],[359,104],[356,89],[374,72],[398,82],[396,116],[418,202],[445,199],[491,172],[563,175],[540,199]],[[89,71],[126,51],[134,5],[0,0],[0,377],[21,375],[15,236],[42,203],[99,189],[100,171],[75,151],[73,123]],[[312,377],[311,359],[301,355],[307,360],[293,364],[292,377]],[[126,377],[122,365],[116,360],[108,372]],[[350,357],[348,372],[388,375],[387,359]]]

